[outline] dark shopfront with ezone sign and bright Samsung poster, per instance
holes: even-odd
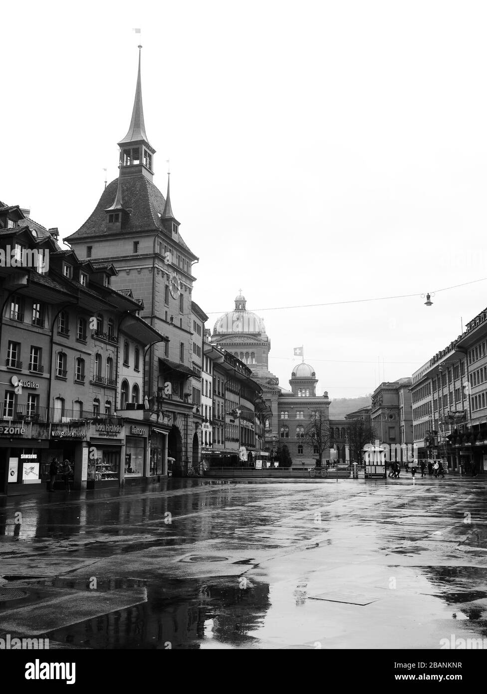
[[[0,426],[0,493],[46,491],[41,454],[49,448],[48,435],[49,428],[33,423]]]

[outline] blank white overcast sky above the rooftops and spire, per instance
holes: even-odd
[[[487,304],[487,282],[420,298],[487,276],[486,15],[465,0],[4,3],[0,199],[62,237],[85,221],[103,168],[117,176],[141,42],[154,183],[170,158],[209,327],[240,287],[250,310],[418,295],[257,311],[284,387],[304,345],[321,391],[363,395]]]

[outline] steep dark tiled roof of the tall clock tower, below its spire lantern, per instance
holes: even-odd
[[[78,241],[87,239],[91,236],[100,234],[119,236],[120,233],[133,233],[137,231],[160,230],[164,235],[166,231],[162,227],[160,216],[164,212],[166,200],[160,190],[155,187],[152,181],[148,180],[143,174],[139,176],[127,176],[121,179],[121,196],[123,200],[123,208],[132,210],[130,215],[122,223],[122,231],[117,230],[107,231],[107,214],[105,210],[113,204],[117,195],[117,186],[119,179],[115,178],[108,184],[101,198],[94,208],[92,214],[80,228],[65,238],[65,241]],[[194,255],[178,234],[178,242],[191,255]],[[194,256],[196,257],[196,256]]]

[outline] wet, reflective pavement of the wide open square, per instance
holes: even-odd
[[[487,639],[486,484],[171,478],[0,498],[0,636],[96,649]]]

